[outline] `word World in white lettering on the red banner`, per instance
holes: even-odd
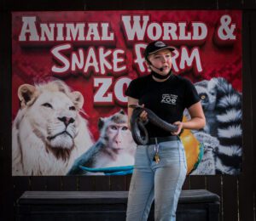
[[[191,22],[190,27],[185,21],[159,23],[149,19],[149,15],[123,15],[122,22],[127,40],[143,41],[148,37],[153,41],[191,41],[194,45],[197,41],[201,44],[206,40],[207,26],[202,22]]]

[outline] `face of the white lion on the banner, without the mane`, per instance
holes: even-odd
[[[35,94],[34,98],[31,94]],[[79,108],[84,103],[82,95],[49,88],[31,94],[30,103],[26,102],[25,108],[33,132],[53,149],[71,149],[78,133]]]

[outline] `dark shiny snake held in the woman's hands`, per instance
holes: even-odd
[[[131,135],[135,143],[137,143],[138,145],[148,144],[148,131],[145,127],[148,122],[151,122],[155,126],[160,127],[168,132],[177,132],[177,125],[162,120],[154,113],[154,111],[151,111],[150,109],[145,108],[142,105],[129,105],[129,107],[133,109],[131,115]],[[147,121],[143,121],[140,118],[140,115],[143,111],[146,111],[148,113]]]

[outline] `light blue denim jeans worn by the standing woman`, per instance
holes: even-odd
[[[187,173],[180,140],[159,144],[160,162],[154,159],[156,145],[138,145],[131,178],[126,221],[148,218],[154,200],[154,220],[174,221],[177,201]]]

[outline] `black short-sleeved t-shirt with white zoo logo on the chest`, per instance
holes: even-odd
[[[138,77],[131,81],[125,95],[138,99],[139,105],[144,104],[169,123],[182,122],[184,109],[200,101],[194,85],[188,79],[173,74],[165,82],[154,81],[152,75]],[[149,138],[171,135],[150,122],[146,127]]]

